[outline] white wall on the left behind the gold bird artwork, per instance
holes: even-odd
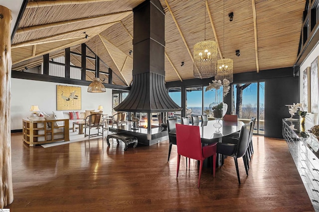
[[[57,109],[56,85],[81,87],[82,102],[78,111],[97,110],[103,105],[104,114],[111,113],[112,89],[107,88],[105,93],[88,93],[88,86],[11,78],[11,130],[22,129],[22,118],[30,116],[31,105],[38,105],[41,111],[52,114]]]

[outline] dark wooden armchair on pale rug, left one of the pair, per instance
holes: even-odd
[[[103,122],[103,114],[96,113],[91,114],[85,118],[85,125],[84,125],[84,137],[89,136],[89,139],[94,136],[104,136],[104,122]],[[88,128],[89,132],[86,133],[86,129]],[[91,130],[93,128],[97,129],[97,133],[91,134]],[[100,129],[102,129],[102,132],[100,132]]]

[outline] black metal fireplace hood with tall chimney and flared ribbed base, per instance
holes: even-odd
[[[181,108],[165,87],[165,13],[159,0],[146,0],[133,9],[133,85],[114,108],[127,112],[174,112]]]

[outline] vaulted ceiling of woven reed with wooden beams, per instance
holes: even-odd
[[[42,55],[58,57],[67,47],[80,51],[79,44],[86,43],[113,70],[114,84],[130,85],[132,9],[143,1],[30,0],[13,37],[12,70],[37,66]],[[165,81],[193,78],[193,46],[205,38],[218,42],[218,57],[233,59],[234,73],[292,67],[297,60],[306,0],[160,3],[166,14]],[[234,13],[233,21],[229,21],[230,12]],[[240,50],[239,57],[236,50]],[[72,57],[71,62],[78,63]],[[92,74],[87,72],[87,80],[94,77]]]

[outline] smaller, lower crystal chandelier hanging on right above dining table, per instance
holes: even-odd
[[[223,29],[223,48],[225,47],[225,0],[224,0],[224,29]],[[233,60],[229,58],[222,58],[217,61],[217,74],[215,76],[215,80],[221,80],[227,79],[229,83],[232,83],[234,81],[233,76]]]

